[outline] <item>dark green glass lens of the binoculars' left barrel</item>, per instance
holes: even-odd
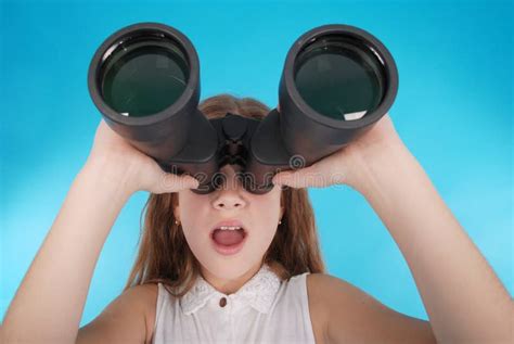
[[[189,79],[179,46],[163,34],[146,33],[121,42],[102,71],[104,101],[124,116],[149,116],[174,104]]]

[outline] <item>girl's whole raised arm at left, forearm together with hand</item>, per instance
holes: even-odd
[[[0,342],[75,343],[94,266],[130,194],[174,192],[192,181],[163,173],[102,120],[88,162],[9,306]]]

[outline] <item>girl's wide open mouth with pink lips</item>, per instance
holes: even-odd
[[[210,231],[215,250],[223,255],[235,254],[243,247],[248,237],[247,231],[239,221],[223,221]]]

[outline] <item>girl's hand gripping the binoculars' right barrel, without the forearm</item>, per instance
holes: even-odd
[[[381,156],[385,156],[385,150],[396,149],[401,144],[403,143],[396,132],[393,120],[385,114],[370,130],[348,145],[308,167],[279,173],[272,182],[292,188],[347,184],[360,191],[362,183],[365,183],[370,167],[385,163],[381,160]]]

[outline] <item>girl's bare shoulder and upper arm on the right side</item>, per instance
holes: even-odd
[[[310,273],[307,289],[312,326],[323,342],[435,343],[428,321],[398,313],[337,277]]]

